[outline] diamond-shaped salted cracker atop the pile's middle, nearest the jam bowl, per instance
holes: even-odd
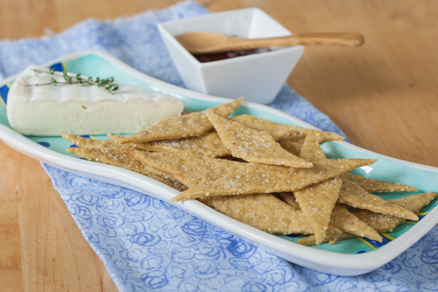
[[[255,163],[304,168],[313,166],[311,162],[281,148],[266,131],[254,130],[237,121],[225,119],[214,112],[207,112],[206,116],[212,122],[226,148],[235,157]]]

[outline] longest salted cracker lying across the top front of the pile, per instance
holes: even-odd
[[[222,161],[221,161],[222,162]],[[180,193],[173,202],[208,196],[245,193],[278,193],[301,190],[311,183],[319,183],[351,169],[370,165],[376,160],[344,159],[316,162],[313,168],[293,169],[256,163],[240,163],[228,169],[226,177],[206,181]],[[239,162],[235,162],[239,163]]]

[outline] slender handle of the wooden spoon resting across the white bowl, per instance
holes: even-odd
[[[239,39],[240,42],[242,39]],[[239,47],[283,47],[297,45],[336,45],[346,47],[360,47],[364,38],[358,33],[305,33],[292,36],[279,36],[272,38],[246,39]],[[230,44],[231,45],[231,44]]]

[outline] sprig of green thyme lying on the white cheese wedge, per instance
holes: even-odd
[[[65,82],[58,82],[56,78],[52,77],[50,79],[49,83],[36,83],[36,84],[27,84],[26,86],[43,86],[43,85],[54,85],[57,86],[58,84],[88,84],[88,85],[97,85],[98,88],[107,89],[108,92],[112,94],[113,91],[116,91],[119,89],[119,85],[114,82],[114,78],[111,76],[110,78],[82,78],[80,76],[80,73],[76,74],[76,76],[70,76],[68,75],[67,70],[64,70],[63,72],[55,71],[54,68],[50,68],[49,70],[43,70],[43,69],[34,69],[35,75],[38,76],[38,74],[46,73],[54,76],[60,76],[63,77]]]

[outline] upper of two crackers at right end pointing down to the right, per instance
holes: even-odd
[[[346,179],[343,182],[339,192],[339,203],[345,203],[355,208],[367,209],[375,213],[390,214],[413,221],[418,220],[416,214],[402,208],[400,205],[390,203],[377,195],[368,193],[359,184],[351,183]]]

